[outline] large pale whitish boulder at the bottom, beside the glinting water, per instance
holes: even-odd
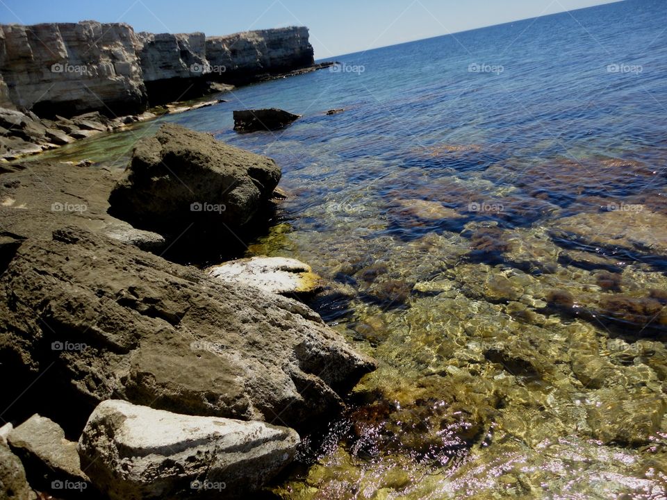
[[[109,400],[90,416],[79,453],[112,500],[237,498],[277,474],[297,444],[286,427]]]

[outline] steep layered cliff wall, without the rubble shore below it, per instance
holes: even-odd
[[[138,113],[201,95],[208,81],[245,83],[313,64],[303,27],[206,38],[135,33],[127,24],[0,25],[0,107],[40,116]]]

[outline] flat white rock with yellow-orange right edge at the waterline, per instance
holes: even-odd
[[[285,257],[234,260],[211,267],[208,276],[284,295],[309,294],[322,288],[320,276],[308,264]]]

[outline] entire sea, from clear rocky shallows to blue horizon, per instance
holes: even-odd
[[[281,165],[249,254],[310,263],[380,364],[281,498],[663,499],[666,19],[625,1],[352,54],[49,156],[124,165],[167,120]],[[272,106],[303,117],[233,133]]]

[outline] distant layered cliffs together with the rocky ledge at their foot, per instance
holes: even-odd
[[[165,113],[212,106],[193,99],[312,72],[304,27],[135,33],[127,24],[0,25],[0,161],[54,149]]]

